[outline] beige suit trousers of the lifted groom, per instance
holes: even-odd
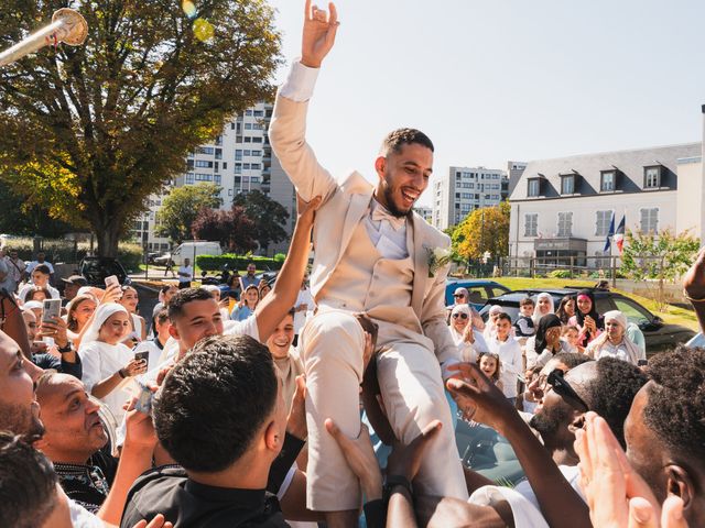
[[[467,501],[438,361],[427,346],[410,339],[412,332],[402,331],[398,341],[392,340],[392,327],[380,326],[378,344],[382,351],[377,369],[384,408],[397,438],[409,443],[432,420],[443,422],[424,452],[415,490]],[[361,501],[358,480],[324,422],[332,418],[349,437],[360,432],[362,329],[349,312],[328,311],[316,315],[301,339],[307,387],[306,506],[318,512],[357,509]]]

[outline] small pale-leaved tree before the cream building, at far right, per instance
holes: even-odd
[[[632,280],[652,286],[658,310],[663,311],[666,307],[664,282],[673,283],[685,274],[699,246],[699,240],[688,230],[679,234],[670,229],[659,233],[627,230],[619,271]]]

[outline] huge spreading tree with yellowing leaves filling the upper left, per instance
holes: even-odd
[[[226,120],[272,96],[280,35],[264,0],[4,0],[0,48],[59,7],[88,23],[78,47],[0,68],[0,174],[52,218],[90,227],[113,256],[147,197]]]

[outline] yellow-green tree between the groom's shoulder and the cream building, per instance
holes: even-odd
[[[495,258],[507,256],[510,211],[511,207],[507,201],[495,207],[475,209],[451,235],[454,253],[465,260],[481,258],[487,251]]]

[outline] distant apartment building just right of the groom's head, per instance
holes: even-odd
[[[497,206],[509,194],[507,173],[485,167],[449,167],[433,184],[433,219],[435,228],[457,226],[481,207]]]

